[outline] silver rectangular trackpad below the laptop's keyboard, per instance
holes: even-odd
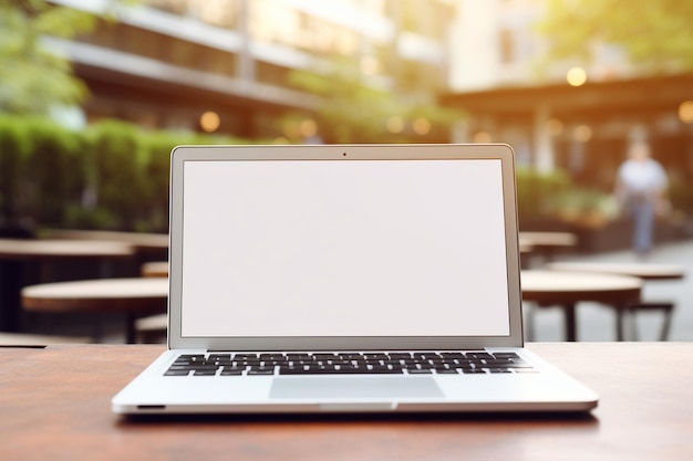
[[[275,378],[270,398],[435,398],[443,391],[427,377],[290,377]]]

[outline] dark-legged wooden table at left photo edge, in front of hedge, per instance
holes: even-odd
[[[25,284],[24,264],[42,263],[42,279],[54,261],[101,261],[95,276],[107,276],[106,263],[128,259],[134,249],[128,243],[82,240],[0,239],[0,331],[19,331],[20,289]]]

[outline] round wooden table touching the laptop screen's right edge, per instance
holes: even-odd
[[[525,270],[521,272],[523,300],[539,306],[557,305],[563,310],[566,339],[577,340],[576,305],[592,301],[616,307],[617,338],[623,339],[622,310],[640,302],[640,279],[558,271]]]

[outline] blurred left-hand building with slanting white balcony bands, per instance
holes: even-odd
[[[52,0],[99,12],[108,0]],[[310,114],[314,96],[292,88],[292,70],[349,56],[373,84],[444,88],[451,0],[141,0],[116,8],[68,53],[92,97],[87,121],[249,138],[278,135],[288,112]]]

